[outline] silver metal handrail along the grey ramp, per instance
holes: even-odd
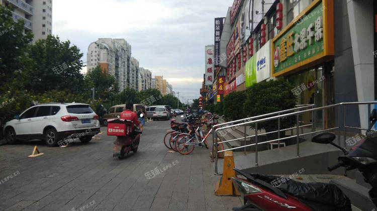
[[[368,120],[370,118],[370,104],[377,104],[377,101],[363,101],[363,102],[340,102],[340,103],[336,103],[336,104],[331,104],[331,105],[325,105],[323,107],[318,107],[318,108],[312,108],[312,109],[308,109],[308,110],[302,110],[302,111],[298,111],[298,112],[292,112],[292,113],[288,113],[288,114],[283,114],[283,115],[280,115],[280,113],[283,113],[283,112],[286,112],[288,110],[284,110],[284,111],[280,111],[280,112],[274,112],[274,113],[270,113],[270,114],[265,114],[265,115],[259,115],[259,116],[256,116],[256,117],[251,117],[251,118],[245,118],[245,119],[242,119],[242,120],[237,120],[237,121],[232,121],[232,122],[228,122],[228,123],[223,123],[223,124],[219,124],[219,125],[227,125],[227,124],[230,124],[230,123],[235,123],[235,122],[241,122],[241,121],[247,121],[247,120],[250,120],[251,121],[248,121],[248,122],[243,122],[243,123],[239,123],[239,124],[236,124],[236,125],[231,125],[231,126],[225,126],[225,127],[222,127],[222,128],[217,128],[217,129],[214,129],[213,130],[213,139],[214,139],[214,148],[216,150],[216,159],[215,159],[215,174],[218,173],[218,170],[217,170],[217,161],[218,161],[218,153],[219,152],[225,152],[225,151],[229,151],[229,150],[234,150],[234,149],[240,149],[240,148],[244,148],[244,152],[246,155],[246,147],[249,147],[249,146],[254,146],[255,145],[255,165],[258,165],[258,149],[257,149],[257,146],[258,146],[258,123],[261,123],[261,122],[265,122],[265,121],[270,121],[270,120],[278,120],[278,138],[277,139],[274,139],[274,140],[269,140],[269,141],[265,141],[265,142],[261,142],[259,144],[265,144],[265,143],[269,143],[269,142],[276,142],[280,140],[285,140],[285,139],[288,139],[288,138],[296,138],[297,140],[297,157],[300,157],[300,148],[299,148],[299,137],[300,136],[306,136],[306,135],[312,135],[312,134],[315,134],[315,133],[319,133],[319,132],[324,132],[324,131],[331,131],[331,130],[335,130],[335,129],[340,129],[340,107],[343,106],[343,141],[344,141],[344,147],[346,146],[345,145],[345,141],[346,141],[346,128],[353,128],[353,129],[361,129],[361,130],[364,130],[362,128],[356,128],[356,127],[349,127],[349,126],[346,126],[345,125],[345,114],[346,114],[346,107],[345,105],[349,105],[349,104],[357,104],[357,105],[361,105],[361,104],[367,104],[368,105]],[[304,106],[305,108],[308,107],[307,105]],[[298,110],[298,109],[303,109],[304,107],[299,107],[299,108],[294,108],[294,109],[291,109],[291,111],[295,111],[295,110]],[[313,105],[309,105],[309,107],[313,107]],[[334,127],[334,128],[329,128],[329,129],[323,129],[323,130],[319,130],[319,131],[316,131],[315,130],[315,122],[316,122],[316,116],[315,116],[315,112],[316,111],[319,111],[319,110],[325,110],[325,109],[331,109],[331,108],[335,108],[335,107],[338,107],[338,127]],[[299,121],[299,115],[301,114],[304,114],[304,113],[307,113],[307,112],[312,112],[312,122],[311,124],[309,125],[304,125],[304,126],[300,126],[300,121]],[[273,117],[267,117],[267,118],[263,118],[263,119],[258,119],[258,120],[252,120],[253,118],[257,118],[257,117],[266,117],[266,116],[271,116],[273,114],[278,114],[277,116],[273,116]],[[290,116],[296,116],[296,127],[294,128],[289,128],[289,129],[282,129],[280,130],[280,119],[281,118],[286,118],[286,117],[290,117]],[[255,124],[255,135],[253,136],[246,136],[246,126],[248,124]],[[309,133],[303,133],[303,134],[300,134],[300,131],[299,131],[299,128],[301,127],[307,127],[307,126],[310,126],[312,125],[312,132],[309,132]],[[238,138],[238,139],[234,139],[234,140],[228,140],[228,141],[222,141],[222,142],[218,142],[218,131],[220,130],[224,130],[224,129],[229,129],[229,128],[233,128],[233,127],[238,127],[238,126],[244,126],[245,127],[245,136],[243,137],[244,140],[245,140],[245,145],[244,146],[239,146],[239,147],[235,147],[235,148],[231,148],[231,149],[224,149],[224,150],[220,150],[218,151],[217,149],[217,145],[219,143],[226,143],[226,142],[230,142],[230,141],[235,141],[235,140],[240,140],[242,138]],[[370,122],[368,122],[368,127],[370,127]],[[290,136],[290,137],[285,137],[285,138],[280,138],[280,131],[286,131],[286,130],[292,130],[292,129],[295,129],[296,128],[296,135],[295,136]],[[276,131],[273,131],[273,132],[267,132],[267,133],[263,133],[263,134],[268,134],[268,133],[275,133]],[[263,135],[263,134],[259,134],[259,135]],[[246,138],[250,138],[250,137],[255,137],[255,143],[254,144],[249,144],[249,145],[246,145]],[[340,145],[340,130],[338,130],[338,144]],[[278,147],[279,147],[279,144],[278,144]]]

